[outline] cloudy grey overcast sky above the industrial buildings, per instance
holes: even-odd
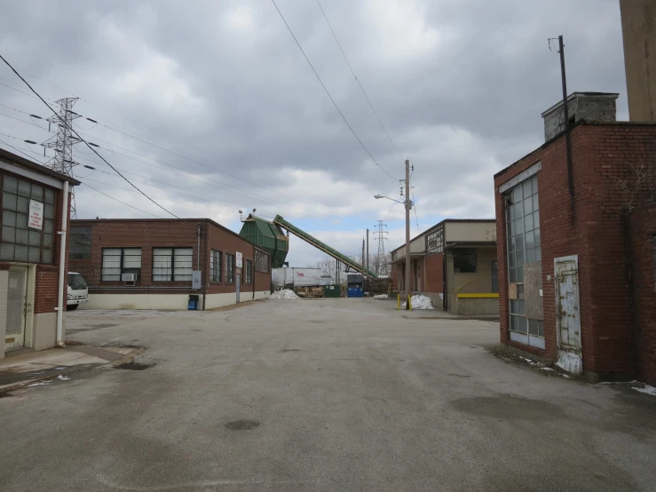
[[[238,210],[257,208],[347,254],[386,218],[386,249],[394,249],[403,207],[373,195],[402,199],[403,159],[316,1],[276,1],[394,179],[353,137],[271,0],[4,2],[0,52],[49,102],[82,98],[75,111],[100,123],[76,120],[83,137],[180,217],[239,232]],[[413,235],[442,218],[494,217],[494,172],[541,145],[540,114],[562,97],[547,38],[565,36],[569,91],[620,92],[618,118],[628,119],[617,0],[320,1],[391,139],[414,163]],[[7,67],[0,83],[28,92]],[[5,85],[0,104],[0,140],[47,160],[51,150],[44,158],[43,147],[23,140],[51,137],[29,116],[49,110]],[[167,217],[88,148],[76,146],[75,160],[97,168],[75,169],[83,183]],[[78,218],[151,217],[86,186],[75,197]],[[291,266],[321,257],[292,238]]]

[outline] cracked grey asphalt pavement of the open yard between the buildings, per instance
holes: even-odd
[[[68,338],[145,346],[146,369],[0,398],[0,490],[656,490],[656,397],[500,360],[494,321],[395,307],[67,313]]]

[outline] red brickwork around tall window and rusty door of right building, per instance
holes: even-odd
[[[579,255],[583,367],[593,373],[630,373],[633,353],[628,327],[626,249],[621,219],[623,201],[617,179],[629,163],[649,161],[656,153],[656,126],[579,124],[573,129],[574,199],[567,186],[565,138],[526,155],[494,179],[495,190],[521,171],[541,162],[538,189],[545,350],[511,342],[508,337],[508,280],[502,195],[495,192],[499,260],[501,339],[528,352],[557,359],[554,258]]]

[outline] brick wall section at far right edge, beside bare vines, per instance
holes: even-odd
[[[656,204],[636,209],[629,218],[631,290],[637,377],[656,385]]]

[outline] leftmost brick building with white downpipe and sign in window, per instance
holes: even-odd
[[[59,232],[70,207],[70,194],[64,200],[64,190],[80,182],[3,149],[0,180],[1,359],[6,352],[43,350],[58,342],[59,275],[67,269],[59,261],[66,235]],[[67,275],[63,279],[67,290]],[[66,310],[62,299],[60,337]]]

